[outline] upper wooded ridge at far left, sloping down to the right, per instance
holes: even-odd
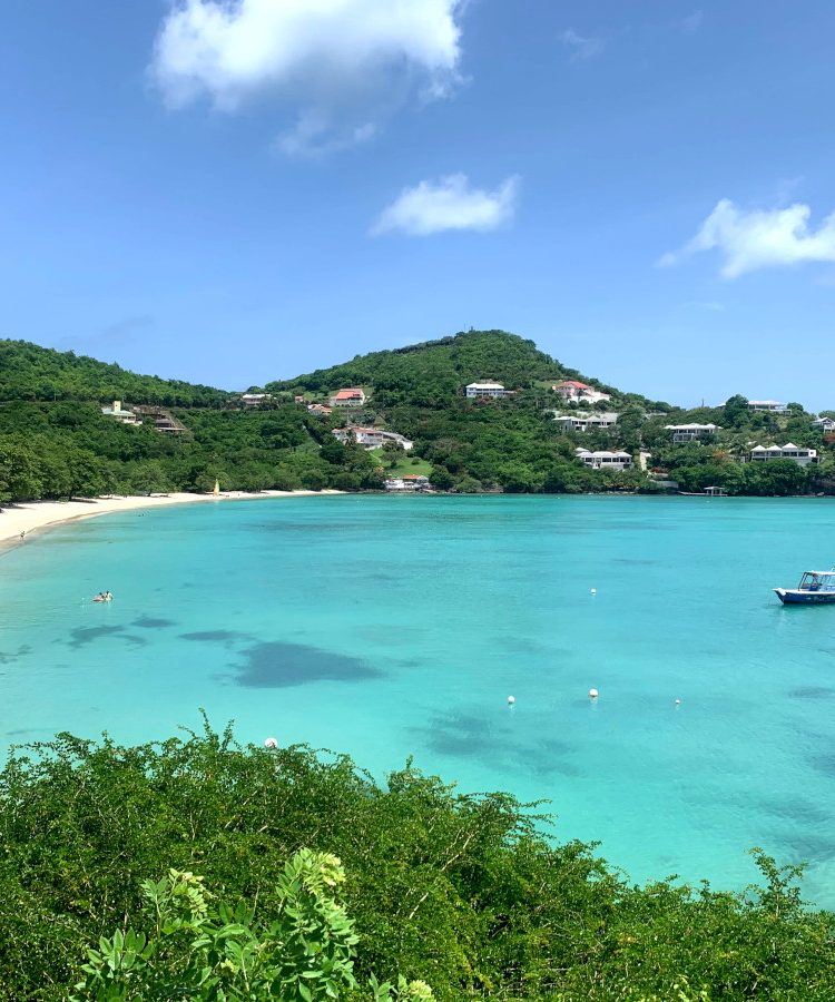
[[[120,365],[27,341],[0,341],[0,400],[129,400],[163,406],[220,406],[232,396],[212,386],[137,375]]]

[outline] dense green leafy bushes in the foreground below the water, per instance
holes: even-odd
[[[387,998],[373,973],[449,1002],[835,998],[835,915],[804,908],[797,867],[636,887],[542,825],[411,763],[379,786],[208,728],[61,735],[0,774],[0,999]]]

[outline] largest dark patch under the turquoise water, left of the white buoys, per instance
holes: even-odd
[[[360,658],[303,644],[266,641],[243,651],[237,684],[255,689],[279,689],[314,681],[364,681],[382,672]]]

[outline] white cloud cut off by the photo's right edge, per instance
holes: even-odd
[[[746,272],[804,262],[835,261],[835,213],[817,229],[809,228],[812,209],[796,204],[782,209],[738,209],[723,198],[696,236],[680,250],[665,254],[661,267],[678,264],[701,250],[719,250],[725,278]]]

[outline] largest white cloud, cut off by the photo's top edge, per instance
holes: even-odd
[[[395,69],[436,96],[458,79],[461,0],[173,0],[151,76],[173,107],[234,110],[264,91],[318,106]]]

